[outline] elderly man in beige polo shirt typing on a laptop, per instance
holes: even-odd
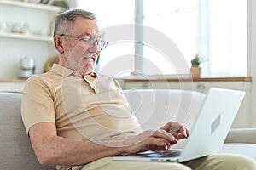
[[[42,165],[57,169],[256,169],[243,156],[212,155],[186,163],[113,161],[111,156],[168,150],[189,130],[177,122],[142,131],[119,83],[94,71],[102,41],[96,15],[72,9],[55,19],[58,65],[26,81],[22,118]],[[170,129],[176,129],[170,133]]]

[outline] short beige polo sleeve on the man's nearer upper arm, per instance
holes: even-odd
[[[21,102],[21,116],[26,133],[29,132],[30,127],[39,122],[55,122],[53,96],[49,83],[42,77],[35,75],[26,81]]]

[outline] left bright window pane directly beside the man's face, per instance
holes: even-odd
[[[105,48],[100,55],[101,71],[115,76],[123,73],[129,75],[134,71],[134,41],[127,42],[119,38],[119,35],[125,35],[125,29],[129,29],[125,25],[134,25],[135,1],[80,0],[77,1],[77,5],[97,15],[103,37],[110,42],[108,48]]]

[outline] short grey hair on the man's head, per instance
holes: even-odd
[[[96,14],[90,13],[84,9],[76,8],[67,10],[55,17],[54,36],[70,31],[77,16],[81,16],[90,20],[96,20]]]

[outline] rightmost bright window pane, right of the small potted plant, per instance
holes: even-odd
[[[197,53],[203,77],[247,76],[247,1],[198,1]]]

